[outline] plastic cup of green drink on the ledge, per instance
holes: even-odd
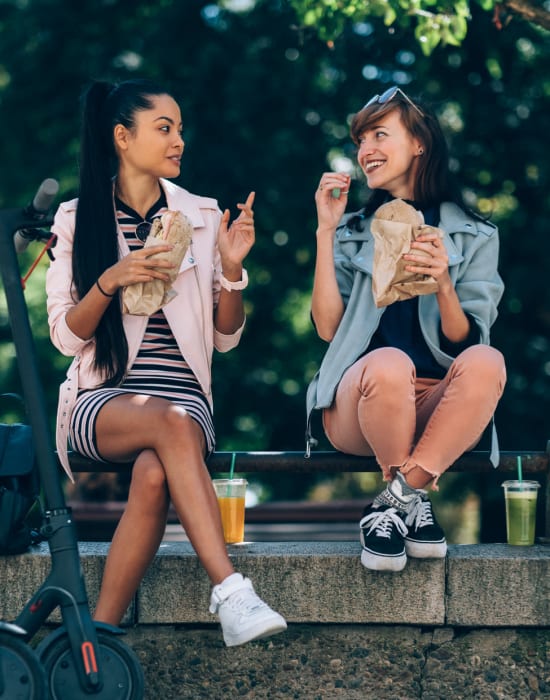
[[[537,514],[536,481],[505,481],[506,535],[508,544],[531,545],[535,543]]]

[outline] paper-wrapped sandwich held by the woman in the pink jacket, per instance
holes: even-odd
[[[192,235],[193,224],[180,211],[167,211],[153,220],[144,248],[163,243],[171,243],[174,246],[172,250],[151,255],[153,260],[159,258],[174,264],[174,267],[164,270],[170,276],[170,280],[165,282],[155,279],[151,282],[136,282],[124,287],[122,291],[124,313],[151,316],[177,296],[177,292],[172,289],[172,284],[178,275]]]

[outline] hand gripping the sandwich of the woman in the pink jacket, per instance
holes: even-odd
[[[121,287],[137,282],[151,282],[154,279],[168,282],[170,276],[167,270],[174,268],[173,263],[152,256],[166,253],[173,247],[169,243],[163,243],[129,253],[100,275],[101,288],[108,294],[115,294]]]

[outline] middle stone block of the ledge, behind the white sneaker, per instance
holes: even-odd
[[[392,575],[361,566],[354,542],[251,543],[229,547],[229,552],[235,569],[249,576],[257,592],[290,623],[444,621],[444,560],[417,560]],[[174,585],[178,580],[181,586]],[[139,621],[212,621],[206,610],[209,592],[191,547],[166,543],[141,586]]]

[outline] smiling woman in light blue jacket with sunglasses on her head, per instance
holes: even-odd
[[[330,345],[308,390],[308,440],[320,409],[336,449],[376,457],[388,484],[361,519],[361,562],[400,571],[407,555],[445,556],[426,488],[479,442],[504,389],[503,357],[489,346],[503,293],[498,232],[453,185],[427,105],[390,88],[354,116],[351,136],[371,192],[360,211],[344,214],[351,178],[327,172],[315,194],[312,317]],[[403,256],[405,269],[433,277],[437,291],[377,308],[370,228],[395,198],[428,225]],[[496,463],[494,425],[492,440]]]

